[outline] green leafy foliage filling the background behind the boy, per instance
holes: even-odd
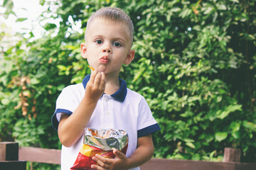
[[[90,73],[80,57],[83,35],[74,26],[81,21],[84,32],[94,11],[116,6],[134,22],[137,51],[120,77],[146,98],[161,126],[154,157],[221,161],[224,148],[235,147],[242,162],[256,162],[255,0],[40,3],[58,6],[40,19],[61,18],[60,26],[48,23],[43,38],[16,35],[16,45],[1,47],[0,141],[60,149],[50,124],[55,100],[64,86]],[[2,6],[7,18],[13,2]],[[4,36],[1,30],[1,43]]]

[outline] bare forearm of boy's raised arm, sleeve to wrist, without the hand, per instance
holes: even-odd
[[[65,115],[60,119],[58,137],[62,145],[71,147],[79,140],[87,127],[96,104],[97,102],[87,102],[83,98],[72,115],[69,117]]]

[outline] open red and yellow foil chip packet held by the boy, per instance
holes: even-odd
[[[92,157],[99,154],[102,157],[114,158],[112,148],[126,154],[128,141],[128,134],[124,130],[85,128],[83,144],[71,170],[92,170],[92,164],[97,164]]]

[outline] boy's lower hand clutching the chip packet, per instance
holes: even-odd
[[[99,154],[96,154],[95,157],[92,157],[92,160],[97,162],[97,165],[93,164],[92,169],[97,170],[127,170],[129,169],[129,160],[122,152],[119,152],[117,149],[113,149],[113,153],[116,156],[114,159],[101,157]]]

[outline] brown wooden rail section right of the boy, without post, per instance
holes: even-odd
[[[237,162],[206,162],[179,159],[153,158],[141,166],[141,170],[256,170],[256,164]]]

